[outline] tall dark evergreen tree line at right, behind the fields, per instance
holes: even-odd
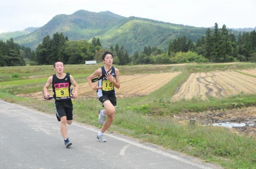
[[[238,39],[228,33],[226,25],[221,29],[215,23],[214,29],[207,28],[205,36],[194,44],[186,37],[175,39],[169,43],[168,55],[171,52],[193,51],[204,56],[209,62],[253,61],[256,53],[256,31],[239,34]]]

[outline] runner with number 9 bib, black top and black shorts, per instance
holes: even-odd
[[[78,85],[73,76],[64,73],[64,63],[55,62],[53,65],[56,74],[50,76],[44,86],[44,99],[55,99],[55,113],[58,121],[61,121],[61,135],[64,138],[64,145],[69,147],[72,143],[67,137],[67,124],[71,124],[73,120],[73,104],[70,96],[71,84],[75,87],[73,98],[77,98]],[[49,97],[48,89],[52,84],[53,97]]]

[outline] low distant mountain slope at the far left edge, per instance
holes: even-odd
[[[27,34],[32,33],[33,31],[37,30],[38,28],[29,27],[29,28],[24,29],[23,31],[4,32],[4,33],[0,34],[0,40],[5,41],[7,39],[10,39],[11,37],[19,37],[22,35],[27,35]]]

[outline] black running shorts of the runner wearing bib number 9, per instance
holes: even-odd
[[[58,121],[61,121],[63,116],[67,116],[67,120],[73,120],[73,104],[71,99],[55,101],[55,113]]]

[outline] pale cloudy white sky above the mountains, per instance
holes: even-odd
[[[0,0],[0,33],[41,27],[81,9],[195,27],[256,27],[256,0]]]

